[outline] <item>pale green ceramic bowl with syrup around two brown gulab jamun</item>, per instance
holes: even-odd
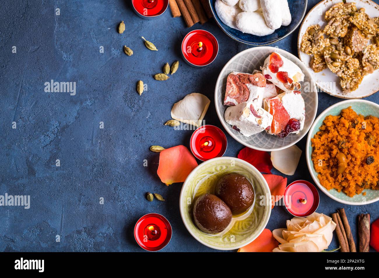
[[[208,235],[194,224],[192,204],[200,195],[213,194],[216,180],[229,172],[249,179],[255,201],[249,211],[233,216],[224,233]],[[234,250],[252,242],[266,227],[271,214],[271,193],[262,174],[250,163],[235,157],[217,157],[201,163],[188,175],[180,192],[179,208],[185,227],[197,241],[218,250]]]

